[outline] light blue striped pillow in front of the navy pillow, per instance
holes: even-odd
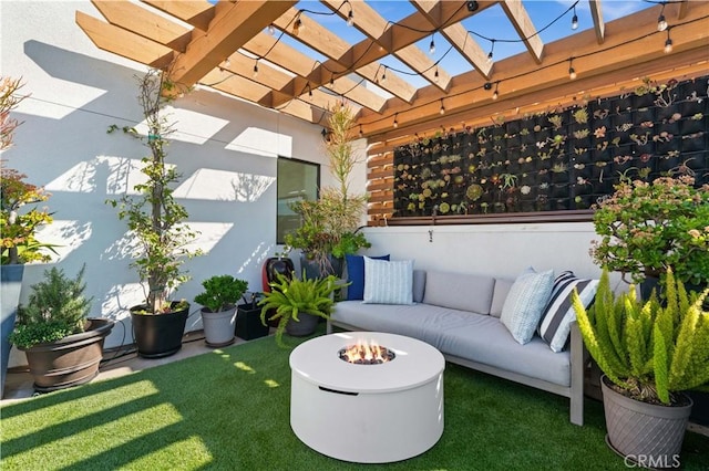
[[[367,304],[413,304],[413,260],[387,262],[364,257]]]

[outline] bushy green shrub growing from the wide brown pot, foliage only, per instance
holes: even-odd
[[[84,332],[84,321],[93,297],[86,299],[84,268],[75,278],[53,266],[44,271],[44,280],[31,286],[28,305],[18,308],[18,324],[10,342],[21,348],[56,342]]]

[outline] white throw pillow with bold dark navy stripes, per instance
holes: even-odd
[[[576,320],[576,313],[572,306],[574,287],[578,290],[580,302],[588,308],[596,296],[598,280],[582,280],[571,271],[559,273],[554,280],[552,297],[546,304],[540,324],[540,336],[549,344],[549,348],[554,352],[564,349],[568,341],[571,324]]]

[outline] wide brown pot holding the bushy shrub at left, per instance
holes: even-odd
[[[91,381],[99,374],[103,341],[113,321],[89,318],[89,327],[61,341],[20,348],[27,355],[34,389],[49,393]]]

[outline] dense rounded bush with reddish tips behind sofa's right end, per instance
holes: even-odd
[[[709,185],[695,188],[689,176],[651,184],[628,179],[596,206],[594,262],[640,282],[646,276],[709,284]]]

